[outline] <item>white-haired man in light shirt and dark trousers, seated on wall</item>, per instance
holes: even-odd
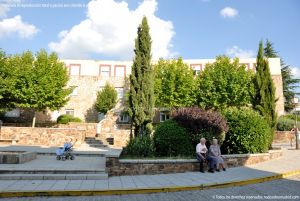
[[[196,146],[196,158],[200,162],[200,172],[204,173],[203,163],[207,160],[209,162],[208,172],[214,173],[214,167],[216,165],[216,160],[210,156],[207,156],[207,148],[205,145],[205,138],[200,139],[200,143]]]

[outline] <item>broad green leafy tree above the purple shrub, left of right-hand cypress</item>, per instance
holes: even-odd
[[[229,106],[246,106],[251,103],[253,73],[232,62],[226,56],[218,56],[207,64],[198,78],[198,104],[204,109],[222,110]]]

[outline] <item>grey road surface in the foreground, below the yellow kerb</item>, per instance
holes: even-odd
[[[40,185],[38,182],[36,186]],[[62,184],[64,186],[65,184]],[[82,185],[77,183],[74,186]],[[95,184],[96,185],[96,184]],[[57,186],[56,186],[57,187]],[[54,186],[53,189],[56,188]],[[59,186],[57,188],[60,188]],[[22,197],[5,198],[3,201],[214,201],[214,200],[300,200],[300,175],[270,182],[210,189],[202,191],[182,191],[173,193],[153,193],[110,196],[71,196],[71,197]]]

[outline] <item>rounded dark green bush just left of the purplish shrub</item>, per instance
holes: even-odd
[[[173,120],[159,124],[153,134],[157,156],[188,156],[193,147],[185,128]]]

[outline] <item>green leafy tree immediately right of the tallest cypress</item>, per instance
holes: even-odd
[[[154,66],[155,72],[155,106],[156,107],[190,107],[196,103],[195,79],[193,70],[177,60],[160,59]]]

